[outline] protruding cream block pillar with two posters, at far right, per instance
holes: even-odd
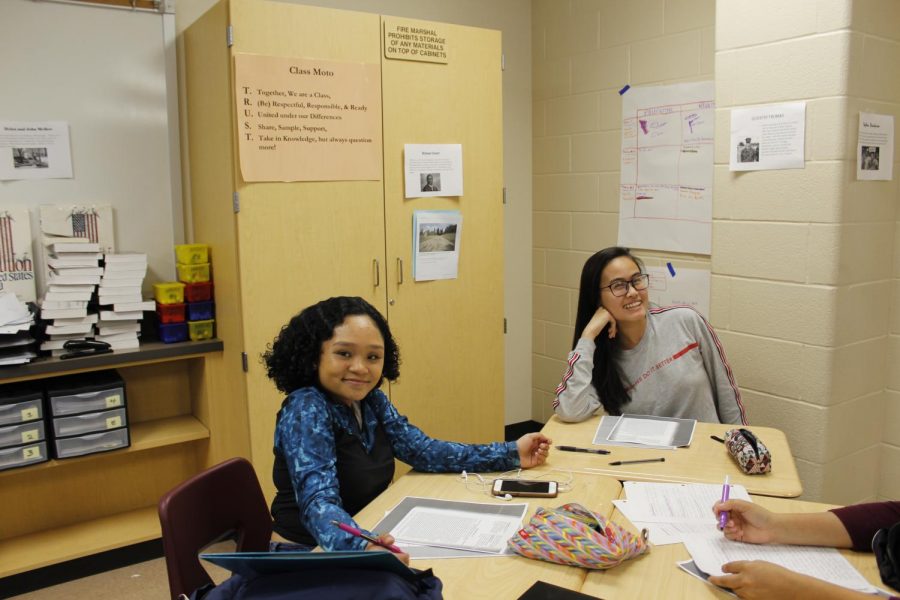
[[[882,441],[900,425],[900,396],[885,391],[900,358],[897,184],[855,171],[859,112],[897,113],[898,8],[716,5],[713,319],[752,422],[787,433],[804,497],[827,502],[898,491],[898,437]],[[807,102],[806,168],[729,172],[730,109],[794,100]]]

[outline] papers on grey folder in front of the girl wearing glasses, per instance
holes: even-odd
[[[691,445],[696,425],[694,419],[651,415],[604,416],[594,434],[594,444],[673,450]]]

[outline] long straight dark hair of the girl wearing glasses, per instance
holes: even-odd
[[[581,333],[587,326],[591,317],[600,306],[600,279],[603,269],[612,260],[620,256],[627,256],[634,261],[641,273],[644,272],[644,263],[631,253],[628,248],[611,246],[600,250],[584,263],[581,269],[581,284],[578,289],[578,314],[575,317],[575,333],[572,336],[572,348],[581,338]],[[604,332],[606,329],[603,330]],[[591,383],[600,396],[600,403],[610,415],[621,415],[622,407],[631,402],[631,396],[622,385],[622,376],[613,360],[616,351],[615,339],[601,332],[595,340],[597,347],[594,350],[594,370],[591,373]]]

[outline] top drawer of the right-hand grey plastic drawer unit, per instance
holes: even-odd
[[[115,371],[58,377],[47,383],[47,399],[54,417],[120,408],[125,406],[125,381]]]

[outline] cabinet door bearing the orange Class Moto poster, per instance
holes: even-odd
[[[377,15],[280,2],[233,1],[231,8],[233,53],[379,62]],[[362,296],[385,310],[384,280],[374,273],[376,261],[384,264],[383,185],[245,183],[236,169],[235,188],[251,448],[257,471],[267,473],[283,396],[259,356],[292,315],[319,300]]]

